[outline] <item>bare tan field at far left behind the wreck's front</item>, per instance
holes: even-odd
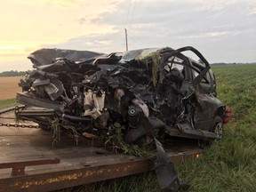
[[[0,100],[13,99],[16,92],[21,92],[19,87],[21,76],[0,76]]]

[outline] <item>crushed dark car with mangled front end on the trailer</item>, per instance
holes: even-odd
[[[133,144],[148,134],[215,140],[228,123],[212,69],[190,46],[108,55],[42,49],[28,59],[36,69],[20,80],[17,100],[26,108],[16,116],[43,129],[57,121],[62,132],[96,138],[122,127]]]

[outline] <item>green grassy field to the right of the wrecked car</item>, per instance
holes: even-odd
[[[232,108],[223,140],[204,151],[204,160],[180,164],[191,191],[255,191],[256,65],[213,68],[218,97]]]

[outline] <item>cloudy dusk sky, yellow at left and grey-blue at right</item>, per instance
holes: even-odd
[[[191,45],[210,62],[256,61],[255,0],[0,0],[0,72],[40,48],[125,51]]]

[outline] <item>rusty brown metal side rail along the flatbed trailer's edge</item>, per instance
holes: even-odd
[[[196,158],[201,150],[193,150],[172,154],[171,161],[176,164],[189,158]],[[155,169],[151,159],[136,159],[118,164],[84,166],[76,165],[69,167],[56,167],[51,170],[28,171],[20,177],[1,177],[0,192],[9,191],[50,191],[60,188],[69,188],[78,185],[97,182],[100,180],[115,179]]]

